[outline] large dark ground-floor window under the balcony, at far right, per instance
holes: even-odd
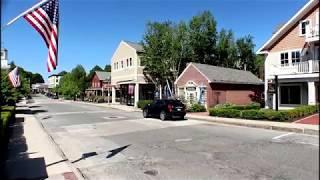
[[[281,104],[301,104],[300,86],[280,86],[280,103]]]

